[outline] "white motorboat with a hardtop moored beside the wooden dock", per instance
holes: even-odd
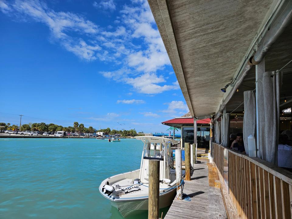
[[[144,142],[140,169],[111,176],[100,184],[99,192],[111,201],[123,217],[148,210],[149,160],[160,160],[159,208],[171,205],[176,195],[176,173],[171,157],[171,143],[163,137],[135,137]],[[157,144],[161,145],[159,149]],[[153,149],[152,147],[153,146]],[[184,172],[183,172],[184,175]]]

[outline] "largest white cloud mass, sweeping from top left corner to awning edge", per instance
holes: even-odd
[[[51,39],[86,61],[99,59],[113,63],[114,71],[99,72],[116,82],[133,86],[137,92],[156,94],[179,89],[177,82],[157,73],[170,66],[169,57],[146,0],[124,5],[112,26],[100,27],[84,16],[54,11],[39,0],[0,0],[0,9],[24,22],[30,19],[48,26]],[[93,2],[97,8],[115,10],[113,0]],[[109,29],[112,29],[108,31]],[[137,39],[141,42],[137,45]],[[136,43],[136,45],[134,44]],[[118,68],[115,68],[116,66]]]

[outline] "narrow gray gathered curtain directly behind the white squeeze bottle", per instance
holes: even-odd
[[[243,140],[246,154],[249,154],[249,135],[255,136],[256,126],[256,105],[255,92],[245,91],[244,96],[244,116],[243,116]]]

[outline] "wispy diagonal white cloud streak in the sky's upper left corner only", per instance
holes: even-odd
[[[96,51],[101,47],[97,44],[86,43],[82,38],[70,36],[71,33],[96,35],[99,28],[93,22],[86,20],[83,16],[70,12],[55,12],[40,1],[15,1],[14,4],[6,5],[1,2],[1,10],[10,12],[11,15],[19,14],[30,17],[36,22],[44,23],[50,29],[54,40],[68,51],[85,60],[95,60]],[[8,10],[9,8],[9,10]]]

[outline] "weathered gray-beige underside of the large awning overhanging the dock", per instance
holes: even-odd
[[[221,88],[237,80],[282,1],[148,2],[191,115],[206,118],[218,111],[229,92]]]

